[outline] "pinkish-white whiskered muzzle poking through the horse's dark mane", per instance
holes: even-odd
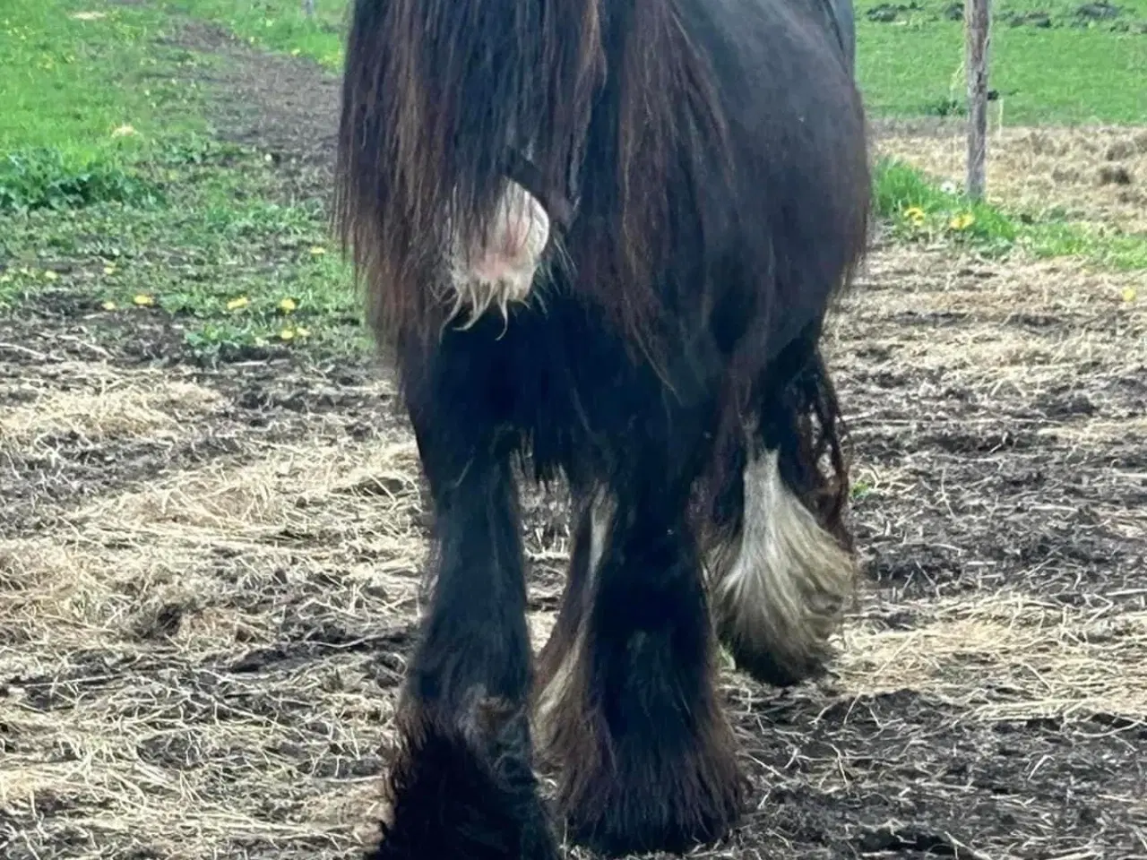
[[[466,308],[469,319],[462,328],[469,328],[493,306],[505,319],[510,304],[529,297],[548,241],[549,216],[545,208],[517,182],[508,181],[494,211],[490,243],[463,251],[461,242],[454,240],[451,318]]]

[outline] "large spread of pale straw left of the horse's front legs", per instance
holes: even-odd
[[[0,544],[0,838],[360,850],[404,671],[380,655],[419,612],[416,475],[406,441],[278,448]]]

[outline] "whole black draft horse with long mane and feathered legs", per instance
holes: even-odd
[[[357,0],[336,213],[397,361],[435,586],[374,854],[720,838],[717,641],[788,685],[853,579],[819,351],[869,206],[849,0]],[[568,479],[537,665],[515,466]]]

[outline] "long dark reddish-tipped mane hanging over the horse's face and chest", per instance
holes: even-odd
[[[450,303],[428,289],[435,252],[448,229],[485,236],[514,146],[548,188],[595,171],[564,237],[572,282],[653,355],[656,266],[677,237],[705,235],[697,195],[731,162],[680,15],[679,0],[356,5],[335,220],[380,339],[438,336]]]

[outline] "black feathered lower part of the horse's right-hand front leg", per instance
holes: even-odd
[[[598,640],[595,655],[575,649],[554,679],[560,717],[546,740],[561,768],[557,802],[571,838],[599,853],[685,851],[720,838],[740,814],[732,730],[697,671],[708,657],[674,654],[672,639],[633,631],[616,650]],[[594,657],[598,673],[587,671]]]

